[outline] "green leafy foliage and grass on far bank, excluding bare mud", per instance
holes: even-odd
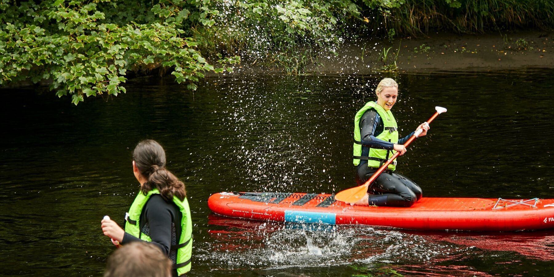
[[[0,0],[0,86],[46,80],[78,104],[125,93],[130,72],[163,69],[194,90],[204,74],[230,71],[239,57],[298,74],[360,34],[392,40],[430,28],[484,32],[500,25],[552,29],[554,2]],[[381,70],[396,70],[388,51]]]

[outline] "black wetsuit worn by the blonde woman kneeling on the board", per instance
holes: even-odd
[[[392,142],[377,139],[383,132],[383,121],[375,109],[369,109],[360,119],[360,139],[362,155],[368,156],[370,148],[393,150]],[[414,133],[399,139],[398,144],[404,144]],[[378,168],[368,167],[367,160],[361,160],[356,171],[358,185],[365,183]],[[370,205],[390,207],[410,207],[416,203],[423,193],[421,188],[411,179],[391,170],[384,170],[368,190]]]

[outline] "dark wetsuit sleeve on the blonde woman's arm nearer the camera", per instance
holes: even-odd
[[[393,150],[394,143],[379,140],[376,137],[381,134],[382,131],[378,134],[376,134],[376,132],[379,127],[381,127],[381,130],[383,129],[382,125],[381,117],[377,114],[375,109],[369,109],[363,113],[360,119],[360,139],[363,146],[376,149]]]

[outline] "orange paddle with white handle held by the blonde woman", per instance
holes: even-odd
[[[437,110],[437,112],[435,112],[435,114],[431,116],[429,120],[425,121],[425,123],[427,124],[431,123],[431,121],[433,121],[435,117],[447,111],[447,109],[445,109],[444,107],[439,107],[439,106],[435,107],[435,110]],[[413,136],[410,137],[408,141],[406,141],[406,143],[404,143],[404,146],[407,147],[410,143],[412,143],[412,141],[415,140],[416,137],[418,137],[422,131],[423,129],[416,130],[416,133],[413,134]],[[387,168],[388,165],[390,165],[391,162],[394,161],[396,157],[398,157],[399,154],[400,152],[394,153],[394,155],[392,155],[392,157],[389,158],[389,160],[386,163],[384,163],[384,165],[379,167],[379,169],[375,173],[373,173],[370,179],[368,179],[364,184],[362,184],[361,186],[345,189],[344,191],[338,192],[335,195],[335,199],[346,203],[356,203],[360,201],[360,199],[362,199],[366,195],[367,188],[370,186],[370,184],[373,181],[375,181],[375,179],[377,179],[377,177],[381,174],[381,172],[383,172],[385,168]]]

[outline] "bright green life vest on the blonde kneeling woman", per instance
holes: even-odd
[[[359,165],[360,160],[367,160],[368,167],[381,167],[389,157],[394,155],[396,151],[394,150],[384,150],[384,149],[375,149],[370,148],[370,154],[367,157],[362,157],[362,144],[361,144],[361,135],[360,135],[360,119],[364,112],[369,109],[375,109],[377,114],[381,116],[381,121],[383,121],[384,130],[377,136],[377,139],[389,141],[392,143],[398,143],[398,125],[394,116],[392,115],[391,110],[384,110],[382,106],[379,106],[376,102],[367,102],[365,106],[362,107],[354,117],[354,165]],[[393,161],[387,167],[389,170],[396,169],[396,161]]]

